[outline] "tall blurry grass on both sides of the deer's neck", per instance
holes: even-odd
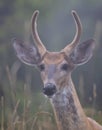
[[[30,84],[15,84],[9,67],[6,71],[10,87],[6,96],[0,99],[0,130],[58,130],[49,100],[39,92],[32,94]],[[14,91],[17,85],[19,87]],[[102,124],[102,112],[96,111],[94,106],[95,102],[93,108],[84,109],[85,113]]]

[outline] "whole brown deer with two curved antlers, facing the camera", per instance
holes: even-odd
[[[79,44],[82,26],[77,13],[72,11],[76,24],[74,40],[60,52],[49,52],[37,32],[38,14],[39,11],[35,11],[31,20],[36,47],[14,39],[18,58],[25,64],[36,65],[40,70],[43,93],[51,99],[59,130],[102,130],[101,125],[84,114],[71,79],[73,69],[92,57],[94,40]]]

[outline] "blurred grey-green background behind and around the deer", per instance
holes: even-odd
[[[17,121],[21,119],[23,121],[25,109],[29,108],[29,117],[37,111],[46,111],[46,109],[52,111],[49,101],[42,94],[43,84],[39,71],[22,64],[12,47],[14,37],[33,43],[30,19],[36,9],[40,11],[39,35],[50,51],[61,50],[73,39],[75,34],[75,23],[71,15],[73,9],[79,14],[83,25],[80,42],[89,38],[95,39],[94,56],[87,64],[78,67],[73,72],[72,78],[82,106],[91,109],[89,115],[93,116],[93,110],[99,112],[99,115],[102,114],[102,0],[0,0],[0,114],[2,115],[0,126],[2,130],[8,128],[10,122],[12,124],[15,121],[17,117],[15,115],[19,115]],[[12,113],[14,113],[13,119],[9,122]]]

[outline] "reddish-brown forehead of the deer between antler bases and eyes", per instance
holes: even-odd
[[[63,62],[64,54],[59,52],[47,52],[43,61],[46,64],[58,64]]]

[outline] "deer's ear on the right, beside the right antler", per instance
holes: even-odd
[[[93,39],[89,39],[82,44],[79,44],[69,56],[71,61],[76,65],[88,62],[92,57],[94,46]]]

